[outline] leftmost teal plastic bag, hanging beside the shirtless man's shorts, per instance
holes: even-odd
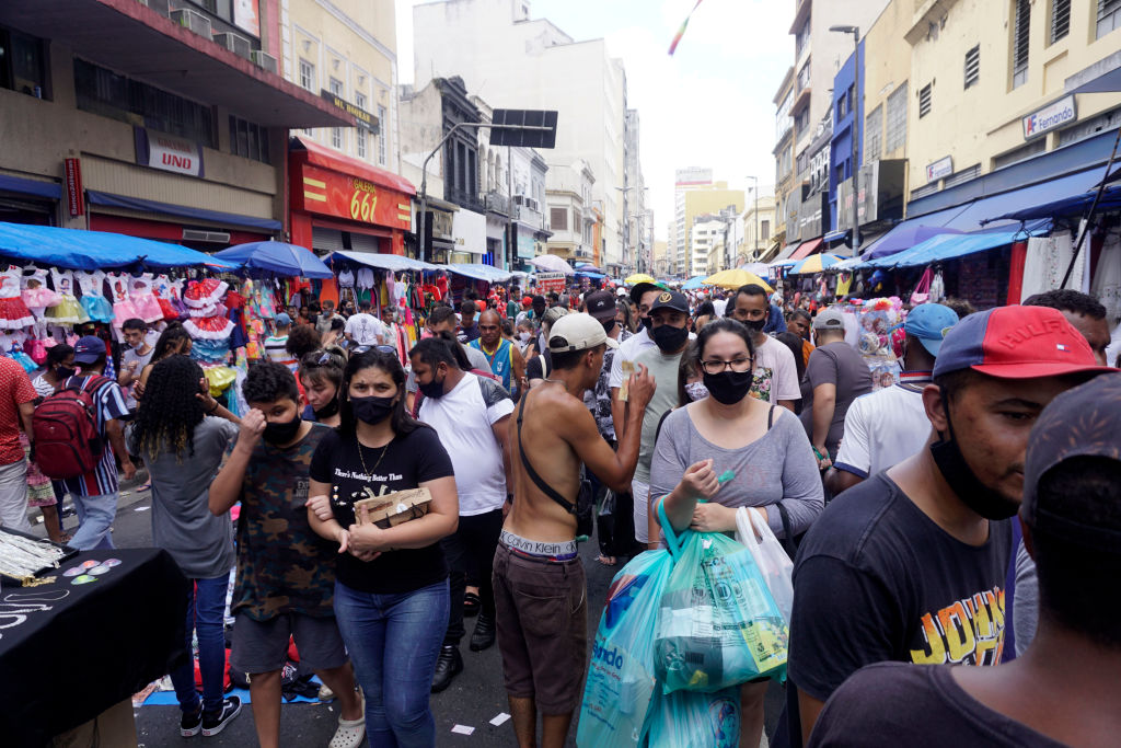
[[[666,551],[647,551],[611,581],[584,684],[578,745],[639,744],[655,691],[655,617],[673,565]]]

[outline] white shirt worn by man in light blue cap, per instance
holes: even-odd
[[[869,478],[917,453],[929,435],[923,394],[904,385],[886,387],[849,406],[835,464]]]

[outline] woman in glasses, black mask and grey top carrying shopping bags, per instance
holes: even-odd
[[[693,350],[708,397],[666,416],[650,469],[651,506],[664,497],[678,532],[732,533],[736,509],[750,507],[778,537],[785,537],[782,512],[791,534],[802,534],[824,506],[817,462],[793,414],[748,395],[751,334],[734,320],[716,320]],[[721,484],[728,471],[734,477]],[[767,683],[740,689],[742,746],[759,745],[766,692]]]

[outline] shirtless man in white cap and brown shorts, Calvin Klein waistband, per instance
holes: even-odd
[[[522,748],[537,745],[538,709],[540,745],[563,746],[581,699],[587,602],[576,517],[569,511],[580,490],[581,463],[615,491],[628,489],[638,463],[642,416],[655,389],[646,369],[631,376],[618,452],[600,436],[584,405],[584,390],[600,377],[605,347],[615,344],[587,314],[557,320],[549,336],[553,370],[522,398],[510,428],[515,499],[494,554],[494,604],[513,731]],[[526,460],[540,483],[530,478]],[[559,497],[552,498],[543,484]]]

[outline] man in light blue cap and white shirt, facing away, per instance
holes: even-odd
[[[919,304],[907,315],[904,371],[899,384],[858,398],[844,419],[844,438],[825,484],[841,491],[887,470],[923,449],[930,422],[923,408],[923,388],[930,384],[942,339],[957,315],[942,304]]]

